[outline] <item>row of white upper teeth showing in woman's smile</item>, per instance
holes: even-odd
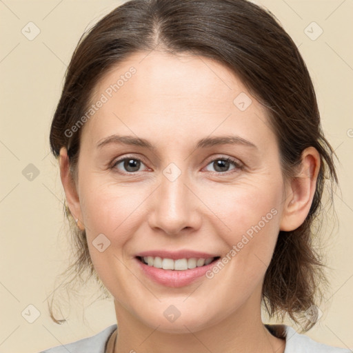
[[[143,256],[143,261],[147,263],[149,266],[153,266],[154,268],[163,268],[163,270],[177,270],[184,271],[196,267],[201,267],[203,265],[208,265],[215,258],[209,257],[208,259],[162,259],[159,256]]]

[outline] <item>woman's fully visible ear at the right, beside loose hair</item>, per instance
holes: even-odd
[[[314,199],[319,170],[319,152],[314,147],[306,148],[301,154],[299,174],[286,186],[280,230],[290,232],[305,221]]]

